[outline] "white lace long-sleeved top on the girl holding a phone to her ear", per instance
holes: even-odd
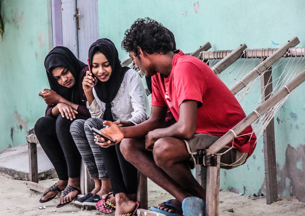
[[[95,99],[90,106],[87,101],[87,108],[91,113],[91,117],[102,119],[105,103],[97,97],[94,88],[92,92]],[[141,78],[135,70],[127,70],[111,105],[114,121],[131,121],[134,124],[139,124],[149,117],[149,102]]]

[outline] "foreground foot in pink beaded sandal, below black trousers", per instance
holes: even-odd
[[[119,216],[122,214],[132,213],[135,210],[137,204],[130,200],[125,193],[117,193],[115,195],[116,199],[116,211],[115,216]]]

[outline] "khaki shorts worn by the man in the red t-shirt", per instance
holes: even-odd
[[[191,154],[190,160],[188,161],[188,166],[191,169],[195,168],[197,163],[196,154],[197,149],[207,149],[210,147],[216,140],[219,139],[218,136],[209,135],[209,134],[195,134],[191,139],[184,139],[188,153]],[[217,154],[224,153],[230,148],[230,146],[224,146]],[[248,153],[242,153],[236,148],[228,150],[228,152],[220,156],[220,167],[224,169],[232,169],[242,165],[248,157]],[[228,165],[224,165],[228,164]]]

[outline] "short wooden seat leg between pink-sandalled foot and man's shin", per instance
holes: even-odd
[[[147,177],[138,171],[138,192],[137,200],[140,203],[139,208],[147,209]]]

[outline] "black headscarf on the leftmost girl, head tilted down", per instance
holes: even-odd
[[[54,79],[52,70],[56,67],[66,67],[70,70],[75,79],[75,85],[72,88],[64,87]],[[86,67],[86,64],[78,60],[70,49],[64,46],[54,47],[45,57],[45,70],[47,71],[50,88],[63,98],[76,104],[80,104],[78,79],[84,67]]]

